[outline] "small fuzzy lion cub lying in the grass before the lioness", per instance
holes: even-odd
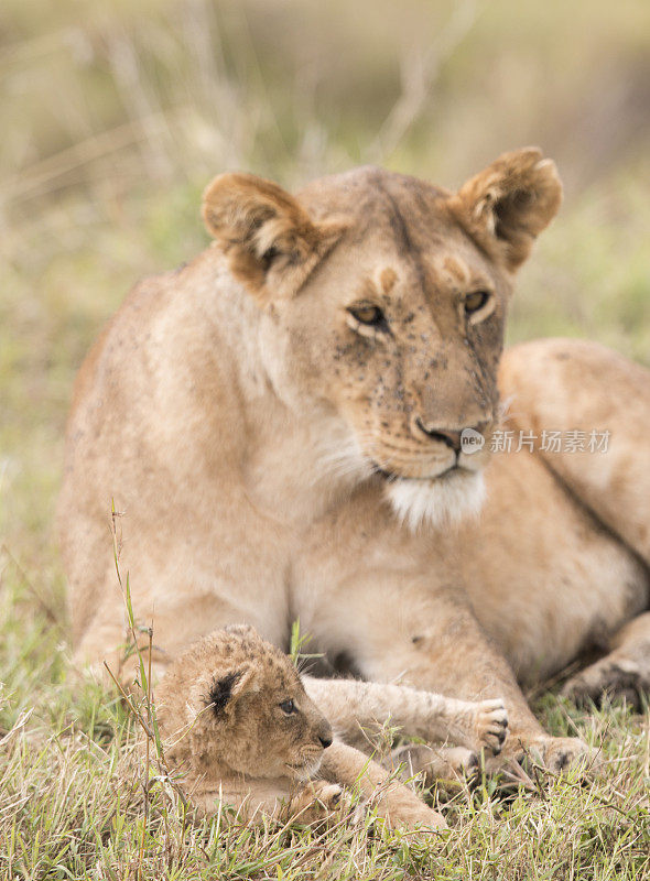
[[[316,684],[327,703],[327,683],[308,684]],[[347,690],[359,721],[376,719],[376,706],[365,713],[358,699],[367,694],[367,683],[332,684],[335,706]],[[401,690],[390,686],[389,692],[394,688]],[[372,689],[381,693],[383,686]],[[403,701],[397,704],[401,716]],[[446,826],[441,814],[379,764],[333,738],[291,660],[251,627],[216,630],[192,645],[158,687],[156,705],[167,760],[182,772],[184,788],[202,813],[214,813],[224,802],[246,818],[267,814],[308,823],[334,812],[342,786],[349,786],[360,790],[390,825]],[[494,715],[502,717],[505,733],[499,706]]]

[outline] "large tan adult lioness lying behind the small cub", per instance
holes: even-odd
[[[513,273],[560,202],[537,149],[457,193],[379,168],[295,197],[217,177],[213,246],[139,284],[78,377],[61,496],[78,659],[123,641],[113,499],[161,665],[239,621],[285,649],[300,617],[336,668],[502,696],[506,754],[584,754],[517,681],[597,645],[571,694],[648,687],[650,382],[588,342],[501,360]],[[490,460],[499,394],[501,428],[609,431],[607,452]]]

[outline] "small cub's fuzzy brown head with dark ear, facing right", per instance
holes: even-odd
[[[306,779],[332,742],[291,661],[243,624],[216,630],[178,657],[156,705],[167,757],[207,780]]]

